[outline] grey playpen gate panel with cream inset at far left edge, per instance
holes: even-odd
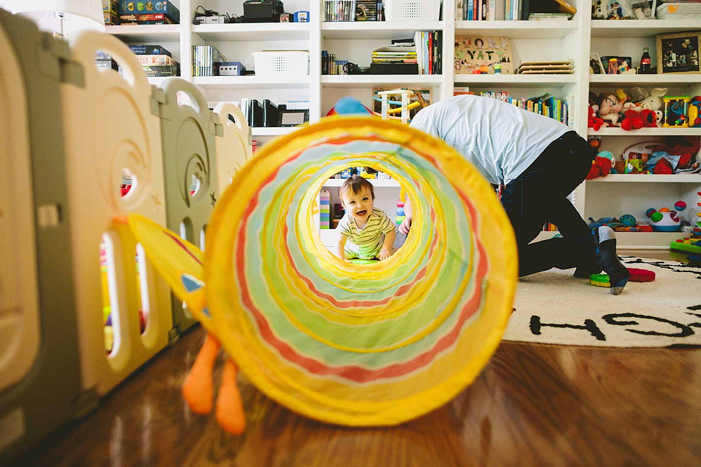
[[[0,231],[12,248],[0,253],[0,320],[25,315],[0,337],[0,459],[13,459],[92,405],[81,397],[61,120],[59,58],[69,48],[2,10],[0,35]]]

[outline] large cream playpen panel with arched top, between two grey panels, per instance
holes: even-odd
[[[150,267],[143,282],[147,288],[139,290],[135,240],[127,230],[111,226],[115,216],[131,212],[165,224],[161,128],[151,114],[146,74],[125,44],[108,34],[82,32],[71,45],[72,61],[81,66],[84,81],[83,87],[62,85],[83,387],[103,395],[165,347],[172,329],[168,290]],[[117,60],[123,76],[97,70],[97,50]],[[125,196],[124,174],[132,182]],[[118,324],[113,327],[117,345],[107,358],[100,312],[103,234],[114,248],[114,264],[107,264],[108,289],[111,319]],[[139,327],[139,293],[147,294],[151,304],[147,339]]]

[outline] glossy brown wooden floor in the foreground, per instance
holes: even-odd
[[[505,341],[452,402],[390,428],[311,421],[240,377],[248,428],[236,437],[192,414],[180,395],[203,338],[200,327],[186,334],[18,465],[701,465],[701,349]],[[220,356],[217,377],[222,364]]]

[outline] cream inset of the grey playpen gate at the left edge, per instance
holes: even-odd
[[[41,339],[27,98],[22,69],[0,29],[0,391],[34,364]]]

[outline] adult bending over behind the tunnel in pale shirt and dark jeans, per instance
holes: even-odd
[[[585,180],[595,154],[568,126],[491,97],[458,95],[419,111],[411,126],[444,140],[488,182],[504,184],[501,203],[516,234],[519,276],[576,267],[575,276],[606,271],[618,295],[628,270],[608,226],[589,229],[567,196]],[[411,228],[411,207],[400,232]],[[545,222],[562,238],[531,243]]]

